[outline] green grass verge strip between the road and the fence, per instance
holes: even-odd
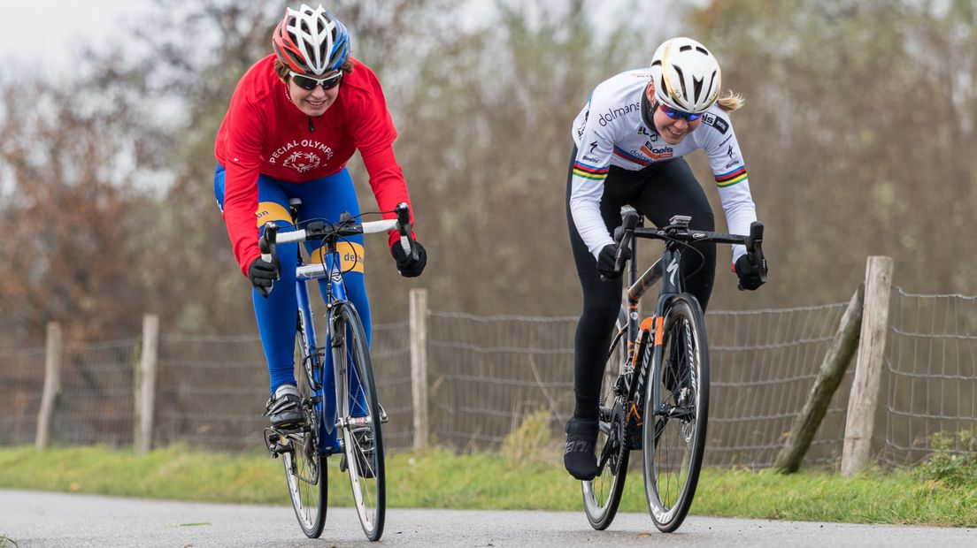
[[[505,456],[509,454],[509,456]],[[444,450],[388,455],[392,507],[580,510],[580,485],[559,458]],[[640,453],[636,453],[640,454]],[[329,503],[350,504],[349,483],[330,459]],[[852,479],[823,472],[702,472],[692,512],[712,516],[977,527],[977,484],[920,472],[869,471]],[[288,504],[281,463],[173,447],[136,455],[105,447],[0,449],[0,487],[197,501]],[[621,511],[645,512],[640,471],[625,484]],[[9,541],[8,541],[9,542]],[[3,546],[0,543],[0,546]]]

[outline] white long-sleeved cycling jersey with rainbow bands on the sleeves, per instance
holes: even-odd
[[[595,257],[604,246],[614,244],[600,211],[611,166],[638,171],[701,148],[709,157],[730,232],[749,234],[749,224],[756,220],[746,166],[729,116],[713,104],[702,113],[699,128],[682,142],[668,144],[655,128],[645,125],[641,115],[641,99],[651,77],[648,69],[638,69],[601,82],[573,120],[577,151],[570,211],[583,243]],[[743,246],[733,246],[733,261],[745,253]]]

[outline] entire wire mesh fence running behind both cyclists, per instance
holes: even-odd
[[[711,397],[706,464],[770,466],[802,409],[847,303],[706,315]],[[872,451],[888,466],[933,450],[974,452],[977,435],[975,297],[893,290]],[[573,412],[574,317],[480,317],[430,312],[429,430],[453,450],[498,450],[537,411],[552,439]],[[413,403],[408,322],[373,326],[387,446],[410,447]],[[128,445],[134,431],[138,339],[66,344],[55,444]],[[837,466],[853,367],[845,374],[805,463]],[[0,444],[31,443],[44,349],[0,352]],[[160,337],[154,445],[260,450],[268,373],[260,340]],[[538,415],[537,415],[538,416]],[[884,428],[883,428],[884,425]],[[968,437],[969,436],[969,437]]]

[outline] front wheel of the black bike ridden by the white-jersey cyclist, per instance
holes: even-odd
[[[709,357],[702,311],[692,295],[675,296],[661,326],[661,364],[652,373],[645,403],[645,494],[655,526],[671,532],[685,520],[699,483]],[[659,411],[653,415],[656,407]]]

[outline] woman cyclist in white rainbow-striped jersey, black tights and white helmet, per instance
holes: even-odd
[[[620,208],[635,207],[656,226],[691,215],[691,227],[714,230],[701,185],[682,156],[702,149],[709,158],[729,231],[748,234],[756,220],[746,167],[729,112],[743,98],[720,98],[721,73],[712,54],[690,38],[662,43],[649,68],[629,70],[594,89],[573,121],[573,157],[567,180],[567,220],[583,312],[574,341],[573,416],[567,423],[564,464],[573,477],[593,479],[601,377],[620,306],[621,271],[612,236]],[[715,276],[715,244],[683,254],[686,291],[704,310]],[[629,254],[624,250],[625,254]],[[733,247],[733,271],[744,289],[762,285],[743,246]],[[601,281],[601,275],[609,279]]]

